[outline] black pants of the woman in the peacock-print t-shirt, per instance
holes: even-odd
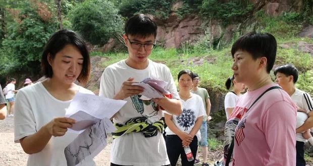
[[[185,154],[182,140],[177,135],[167,135],[165,139],[166,150],[171,162],[171,165],[176,165],[179,155],[182,159],[182,166],[194,165],[194,160],[188,161]],[[193,158],[195,158],[198,149],[198,139],[193,137],[192,142],[189,144]]]

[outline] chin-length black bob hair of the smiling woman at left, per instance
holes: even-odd
[[[77,80],[80,84],[85,85],[90,75],[89,52],[84,40],[73,31],[62,29],[50,37],[42,53],[41,70],[46,77],[51,78],[53,76],[53,70],[48,62],[48,55],[54,59],[56,54],[69,44],[76,46],[84,58],[82,71]]]

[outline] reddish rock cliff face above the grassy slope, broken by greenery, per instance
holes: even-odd
[[[303,1],[296,0],[250,0],[254,4],[254,12],[264,10],[269,16],[278,16],[283,12],[299,12],[303,10]],[[182,7],[182,2],[173,4],[172,11]],[[253,17],[248,17],[238,24],[223,26],[221,21],[212,19],[200,19],[196,14],[185,16],[183,19],[172,12],[167,20],[155,19],[158,24],[158,35],[156,43],[165,48],[180,48],[182,45],[195,44],[197,41],[207,37],[210,39],[210,46],[219,48],[229,44],[234,37],[251,31],[262,29]],[[301,33],[301,36],[312,36],[313,31],[308,29]],[[118,46],[117,46],[118,45]],[[116,39],[97,49],[98,51],[110,51],[123,49],[122,44]]]

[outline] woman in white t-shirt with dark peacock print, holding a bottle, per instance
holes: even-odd
[[[190,92],[193,74],[190,70],[182,70],[178,74],[179,96],[183,112],[176,116],[165,112],[166,148],[171,165],[176,165],[179,155],[182,165],[193,165],[188,161],[184,147],[189,146],[192,155],[196,155],[197,142],[201,139],[199,128],[202,124],[204,106],[200,96]]]

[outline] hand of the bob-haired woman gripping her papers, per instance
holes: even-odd
[[[52,136],[63,136],[67,132],[67,128],[73,127],[76,123],[74,119],[71,118],[55,118],[45,125],[48,133]]]

